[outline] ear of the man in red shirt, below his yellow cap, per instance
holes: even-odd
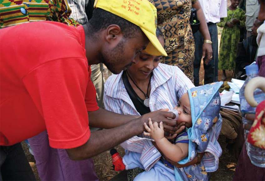
[[[121,28],[116,25],[116,24],[112,24],[109,25],[108,28],[106,29],[106,33],[105,33],[105,39],[108,43],[111,42],[120,42],[120,40],[123,38],[123,34],[121,31]]]

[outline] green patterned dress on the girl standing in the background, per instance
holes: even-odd
[[[225,24],[230,22],[232,18],[238,19],[240,23],[229,28]],[[234,60],[237,56],[237,44],[240,39],[240,27],[245,26],[245,12],[240,8],[235,10],[227,8],[227,17],[221,18],[220,23],[217,23],[217,25],[219,27],[224,27],[220,41],[218,69],[234,70]]]

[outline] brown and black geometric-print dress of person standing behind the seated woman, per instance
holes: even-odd
[[[197,0],[149,0],[157,8],[158,27],[165,37],[168,57],[162,63],[178,66],[193,82],[195,44],[189,23],[191,6]]]

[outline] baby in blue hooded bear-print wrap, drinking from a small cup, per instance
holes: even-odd
[[[216,155],[221,155],[222,151],[217,142],[222,125],[222,118],[219,116],[220,96],[218,92],[221,85],[222,82],[211,83],[191,88],[187,93],[183,94],[179,100],[178,107],[174,109],[178,111],[177,123],[185,122],[186,129],[173,142],[165,138],[162,122],[158,125],[158,123],[152,123],[151,119],[149,119],[149,126],[144,123],[144,127],[147,130],[144,134],[154,139],[162,155],[174,162],[185,164],[191,161],[197,152],[208,152],[207,145],[210,140],[211,144],[214,143],[217,148],[219,147],[219,150],[215,150]],[[173,167],[163,157],[160,161],[167,168]],[[218,163],[212,162],[212,165],[218,168]],[[208,180],[203,161],[183,168],[173,168],[175,180]],[[138,180],[142,179],[141,174],[138,175]]]

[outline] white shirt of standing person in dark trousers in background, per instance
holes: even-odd
[[[199,0],[206,22],[219,23],[227,17],[227,0]]]

